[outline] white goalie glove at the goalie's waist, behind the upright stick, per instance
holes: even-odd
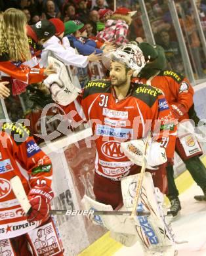
[[[142,166],[145,148],[145,139],[121,142],[121,151],[136,165]],[[165,148],[161,148],[158,142],[152,142],[146,150],[147,169],[155,169],[157,165],[167,162]]]

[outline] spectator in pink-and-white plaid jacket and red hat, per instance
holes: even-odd
[[[126,45],[129,42],[127,32],[132,22],[131,16],[134,13],[125,7],[117,9],[113,12],[110,20],[106,22],[104,30],[99,32],[96,37],[117,46]]]

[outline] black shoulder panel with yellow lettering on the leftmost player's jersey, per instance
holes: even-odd
[[[9,134],[18,145],[30,137],[30,130],[23,123],[3,123],[0,129]]]

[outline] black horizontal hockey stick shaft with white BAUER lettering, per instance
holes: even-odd
[[[83,210],[50,210],[50,214],[52,215],[124,215],[130,216],[131,211],[83,211]],[[138,212],[136,211],[136,216],[149,216],[150,212]]]

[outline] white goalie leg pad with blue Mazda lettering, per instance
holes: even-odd
[[[139,176],[140,174],[136,174],[121,179],[123,203],[127,211],[133,208]],[[158,193],[161,192],[158,191]],[[156,194],[152,175],[144,173],[137,211],[150,211],[151,215],[137,216],[134,220],[139,241],[145,249],[157,249],[174,244],[171,228],[165,221],[162,200],[162,196]]]

